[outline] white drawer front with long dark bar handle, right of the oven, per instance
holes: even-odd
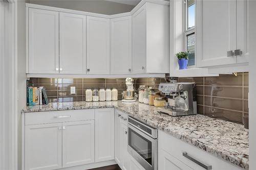
[[[194,158],[200,163],[212,166],[212,170],[241,170],[241,167],[231,164],[228,161],[220,159],[214,155],[211,155],[194,145],[188,144],[180,139],[175,138],[172,135],[166,134],[163,131],[158,131],[158,147],[159,152],[167,152],[168,154],[174,156],[179,161],[183,162],[187,166],[195,170],[204,170],[205,168],[190,160]],[[187,153],[183,156],[183,153]],[[181,168],[183,169],[183,168]]]

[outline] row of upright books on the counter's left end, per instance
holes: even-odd
[[[27,88],[27,106],[47,105],[49,103],[46,89],[44,87],[28,87]]]

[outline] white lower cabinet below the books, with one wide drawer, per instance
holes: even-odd
[[[114,108],[25,113],[23,128],[22,169],[91,169],[114,161]]]

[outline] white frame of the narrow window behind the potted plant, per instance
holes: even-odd
[[[188,0],[184,0],[184,6],[183,6],[183,25],[184,25],[184,46],[183,46],[183,49],[184,51],[187,51],[187,35],[190,35],[190,34],[195,34],[196,36],[196,21],[195,21],[195,26],[194,27],[191,27],[189,29],[187,29],[187,23],[188,23],[188,17],[187,17],[187,1]],[[196,0],[195,0],[195,20],[196,20]],[[197,40],[196,40],[197,42]],[[194,65],[190,65],[190,66],[187,66],[187,68],[196,68],[196,44],[195,44],[195,64]]]

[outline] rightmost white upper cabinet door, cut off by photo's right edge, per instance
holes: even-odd
[[[237,1],[237,49],[242,51],[242,55],[237,56],[238,63],[249,62],[248,5],[248,0]]]

